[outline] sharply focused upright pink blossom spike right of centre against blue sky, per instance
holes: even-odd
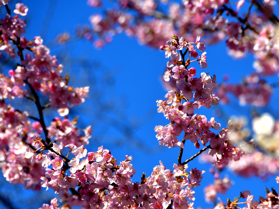
[[[163,113],[170,120],[170,124],[164,127],[161,125],[156,126],[156,137],[162,146],[178,146],[182,149],[184,148],[185,140],[190,139],[196,148],[200,147],[199,142],[203,146],[206,146],[209,142],[209,154],[212,156],[216,153],[222,155],[220,159],[215,161],[215,165],[227,165],[230,159],[237,161],[243,154],[241,148],[235,147],[234,141],[229,137],[231,129],[222,129],[219,133],[215,134],[211,130],[218,130],[220,124],[216,123],[214,118],[208,121],[204,115],[194,115],[194,109],[203,106],[210,108],[211,105],[219,103],[219,98],[215,97],[214,94],[215,88],[218,86],[215,82],[216,76],[210,77],[202,72],[201,77],[197,78],[194,77],[196,75],[195,68],[187,69],[193,61],[198,61],[202,68],[207,67],[206,56],[204,56],[206,52],[199,56],[199,59],[192,61],[187,59],[186,62],[184,61],[187,53],[188,57],[196,58],[198,56],[194,45],[200,51],[205,50],[205,45],[200,41],[200,38],[200,36],[197,36],[196,42],[189,43],[183,37],[178,40],[178,37],[173,36],[176,42],[167,41],[166,45],[161,46],[161,49],[165,50],[166,58],[171,58],[167,63],[167,67],[172,67],[167,69],[164,79],[165,81],[170,81],[170,77],[173,78],[180,92],[171,90],[165,96],[166,101],[157,100],[158,112]],[[185,52],[182,50],[185,50]],[[185,100],[184,103],[183,100]],[[177,136],[182,131],[185,134],[182,142],[179,142]]]

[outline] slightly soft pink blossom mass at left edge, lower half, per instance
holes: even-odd
[[[40,190],[44,170],[39,162],[31,163],[24,157],[30,151],[31,134],[39,135],[33,129],[38,124],[31,123],[27,115],[27,112],[21,113],[11,105],[0,103],[0,167],[7,181],[22,184],[26,189]]]

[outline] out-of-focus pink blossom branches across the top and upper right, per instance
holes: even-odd
[[[115,3],[113,9],[106,8],[105,15],[91,15],[91,28],[78,28],[77,36],[93,40],[97,48],[111,42],[114,35],[122,32],[152,47],[163,45],[172,34],[183,36],[189,41],[200,35],[206,43],[226,40],[231,56],[242,58],[248,52],[254,55],[255,73],[242,84],[221,85],[218,91],[220,100],[228,103],[228,93],[232,93],[241,105],[263,107],[269,102],[272,87],[264,81],[264,76],[279,72],[276,33],[279,20],[273,14],[274,0],[239,0],[236,6],[232,6],[235,2],[228,0],[184,0],[180,3],[119,0]],[[242,11],[244,3],[250,4],[248,11]],[[87,4],[98,7],[101,2],[94,0]],[[69,34],[67,39],[60,35],[58,42],[65,43],[69,39]],[[255,76],[259,79],[248,81],[249,77]]]

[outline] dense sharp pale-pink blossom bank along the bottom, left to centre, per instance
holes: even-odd
[[[126,160],[117,165],[117,160],[103,146],[97,152],[87,152],[84,146],[73,144],[66,147],[74,155],[69,162],[64,163],[61,158],[63,146],[54,144],[56,152],[49,150],[47,154],[38,154],[36,163],[41,162],[46,169],[41,177],[42,187],[59,193],[69,207],[165,209],[171,204],[173,208],[192,207],[189,201],[195,199],[195,192],[191,189],[200,185],[204,173],[196,168],[187,173],[187,165],[176,164],[171,171],[160,162],[151,176],[143,176],[140,183],[132,183],[135,169],[130,163],[131,157],[126,155]],[[69,194],[69,189],[76,186],[78,191]]]

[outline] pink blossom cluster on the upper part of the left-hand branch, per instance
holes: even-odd
[[[16,14],[26,15],[28,8],[24,4],[17,4]],[[24,12],[24,13],[23,13]],[[34,37],[33,41],[24,36],[26,23],[18,15],[12,17],[7,14],[0,20],[0,50],[4,50],[11,58],[15,58],[15,49],[20,56],[20,64],[9,71],[10,78],[1,75],[0,85],[2,98],[22,98],[28,92],[25,85],[40,91],[49,97],[52,107],[72,107],[79,105],[88,98],[89,87],[73,88],[68,85],[69,78],[63,78],[63,65],[58,64],[56,56],[43,45],[41,37]],[[13,47],[15,46],[15,47]],[[30,53],[25,52],[28,50]]]

